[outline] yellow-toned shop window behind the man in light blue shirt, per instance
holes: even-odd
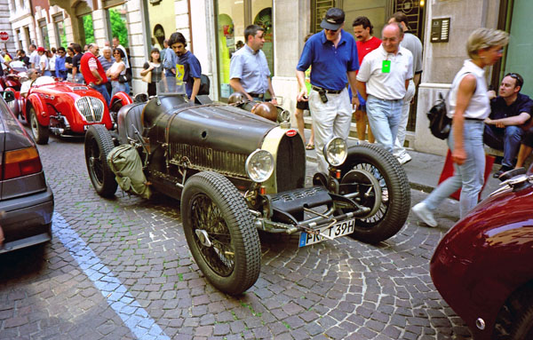
[[[248,25],[255,24],[265,29],[263,52],[267,57],[270,73],[274,75],[272,0],[219,0],[216,11],[219,93],[221,99],[227,99],[232,93],[229,86],[229,63],[241,43],[246,43],[244,28]]]

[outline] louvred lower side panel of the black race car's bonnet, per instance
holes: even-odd
[[[187,144],[171,143],[171,163],[179,164],[184,157],[190,162],[189,166],[197,170],[215,170],[227,176],[248,178],[244,164],[247,154],[235,154],[229,151],[219,151],[205,146],[191,146]]]

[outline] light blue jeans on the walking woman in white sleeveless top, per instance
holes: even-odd
[[[463,144],[466,160],[462,165],[454,163],[454,175],[442,182],[426,197],[424,202],[429,210],[434,210],[445,198],[455,193],[461,186],[463,189],[459,198],[460,217],[465,217],[476,206],[483,186],[483,174],[485,172],[483,126],[484,124],[481,121],[465,121]],[[448,146],[453,151],[453,128],[449,132]]]

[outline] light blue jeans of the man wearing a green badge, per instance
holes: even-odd
[[[386,100],[369,95],[366,102],[370,129],[379,145],[393,153],[394,141],[402,120],[403,99]]]

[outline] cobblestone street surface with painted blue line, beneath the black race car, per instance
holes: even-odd
[[[410,217],[378,245],[344,237],[298,249],[296,236],[262,233],[259,281],[242,297],[228,297],[195,265],[179,202],[120,190],[113,200],[100,198],[83,139],[51,138],[39,150],[59,217],[51,243],[0,257],[1,339],[471,337],[428,273],[436,244],[457,218],[456,203],[443,204],[439,228]],[[413,203],[426,195],[411,194]],[[63,244],[66,225],[85,249]],[[80,260],[87,252],[98,260],[92,272]],[[124,288],[122,302],[130,305],[121,307],[112,296]]]

